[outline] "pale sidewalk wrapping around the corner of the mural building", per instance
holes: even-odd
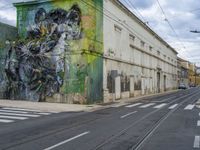
[[[3,100],[0,99],[0,107],[15,107],[15,108],[24,108],[32,109],[42,112],[91,112],[103,108],[109,107],[120,107],[126,105],[127,103],[139,101],[144,98],[150,98],[153,96],[161,96],[168,93],[173,93],[178,90],[157,93],[151,95],[145,95],[140,97],[133,97],[127,99],[120,99],[111,103],[102,103],[102,104],[92,104],[92,105],[80,105],[80,104],[64,104],[64,103],[47,103],[47,102],[30,102],[30,101],[18,101],[18,100]]]

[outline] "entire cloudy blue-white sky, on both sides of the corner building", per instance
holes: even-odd
[[[16,10],[12,3],[21,1],[28,0],[0,0],[0,21],[15,26]],[[121,1],[174,47],[180,57],[200,66],[200,33],[190,32],[200,30],[200,0]]]

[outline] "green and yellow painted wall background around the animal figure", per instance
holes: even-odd
[[[77,4],[81,10],[82,37],[67,41],[70,52],[65,53],[64,57],[69,68],[61,73],[64,84],[60,93],[78,93],[86,97],[87,103],[95,103],[103,100],[103,0],[84,1],[54,0],[16,4],[17,27],[20,38],[26,39],[27,27],[34,24],[38,9],[43,8],[46,12],[57,8],[69,11]]]

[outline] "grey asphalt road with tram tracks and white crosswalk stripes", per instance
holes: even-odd
[[[0,149],[200,149],[199,99],[200,89],[192,88],[94,112],[0,108]]]

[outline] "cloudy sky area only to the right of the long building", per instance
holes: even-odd
[[[192,62],[194,62],[193,58],[195,56],[199,58],[199,60],[196,59],[195,61],[200,62],[200,34],[190,32],[195,29],[200,30],[200,11],[191,11],[198,7],[200,8],[200,1],[179,0],[175,2],[174,0],[159,0],[178,38],[165,21],[165,17],[156,0],[151,3],[146,2],[146,5],[142,5],[145,7],[138,7],[139,0],[135,1],[136,3],[134,1],[132,3],[139,8],[139,12],[148,21],[149,26],[174,47],[179,52],[179,56]],[[141,3],[144,3],[144,1]],[[147,6],[147,4],[149,5]]]

